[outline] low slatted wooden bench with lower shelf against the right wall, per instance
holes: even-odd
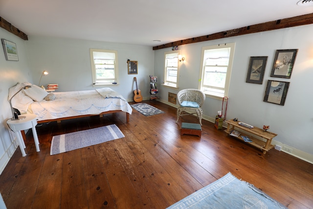
[[[252,140],[252,142],[246,142],[246,143],[249,143],[257,148],[260,148],[263,151],[263,154],[266,154],[266,152],[268,152],[271,148],[274,147],[271,144],[271,142],[272,142],[272,139],[277,136],[277,134],[271,133],[269,131],[265,131],[257,127],[247,128],[245,126],[241,126],[238,124],[240,121],[234,121],[233,119],[226,120],[225,122],[227,123],[227,129],[224,131],[227,133],[227,136],[229,136],[232,130],[236,128],[237,131],[245,132],[245,133],[240,132],[240,135],[236,137],[237,139],[241,139],[245,141],[244,139],[241,138],[241,136],[248,137],[249,139]],[[253,136],[250,136],[250,134],[253,136],[258,136],[262,139],[265,139],[266,141],[256,139]]]

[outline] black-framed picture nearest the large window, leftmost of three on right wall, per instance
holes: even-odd
[[[248,73],[246,75],[247,83],[262,84],[268,57],[250,57]]]

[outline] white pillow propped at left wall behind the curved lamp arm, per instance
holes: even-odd
[[[8,101],[12,98],[12,96],[20,91],[24,86],[31,85],[30,83],[18,83],[17,85],[9,88],[9,96],[8,96]],[[33,103],[34,101],[26,96],[22,91],[16,94],[13,99],[11,100],[12,107],[18,109],[21,113],[26,112],[28,109],[28,105]]]

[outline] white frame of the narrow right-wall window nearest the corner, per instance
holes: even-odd
[[[164,86],[166,87],[171,87],[178,89],[179,88],[179,59],[178,56],[180,54],[180,50],[174,50],[174,51],[166,51],[164,52]],[[172,56],[173,58],[177,58],[177,78],[176,82],[175,81],[170,81],[168,80],[168,74],[169,74],[169,66],[167,66],[167,57]],[[176,66],[172,66],[171,68],[176,68]]]

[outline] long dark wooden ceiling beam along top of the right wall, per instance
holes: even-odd
[[[312,24],[312,23],[313,23],[313,13],[307,14],[307,15],[301,15],[297,17],[292,17],[292,18],[286,18],[282,20],[270,21],[267,23],[253,24],[253,25],[249,25],[246,27],[240,27],[240,28],[236,28],[232,30],[219,32],[219,33],[213,33],[210,35],[180,40],[180,41],[176,41],[176,42],[172,42],[168,44],[163,44],[160,46],[154,46],[153,50],[157,50],[161,48],[168,48],[168,47],[173,47],[173,46],[180,46],[180,45],[185,45],[185,44],[193,44],[193,43],[210,41],[210,40],[216,40],[216,39],[222,39],[222,38],[233,37],[233,36],[241,36],[241,35],[264,32],[264,31],[269,31],[269,30],[277,30],[277,29],[282,29],[282,28],[287,28],[287,27],[295,27],[295,26]]]

